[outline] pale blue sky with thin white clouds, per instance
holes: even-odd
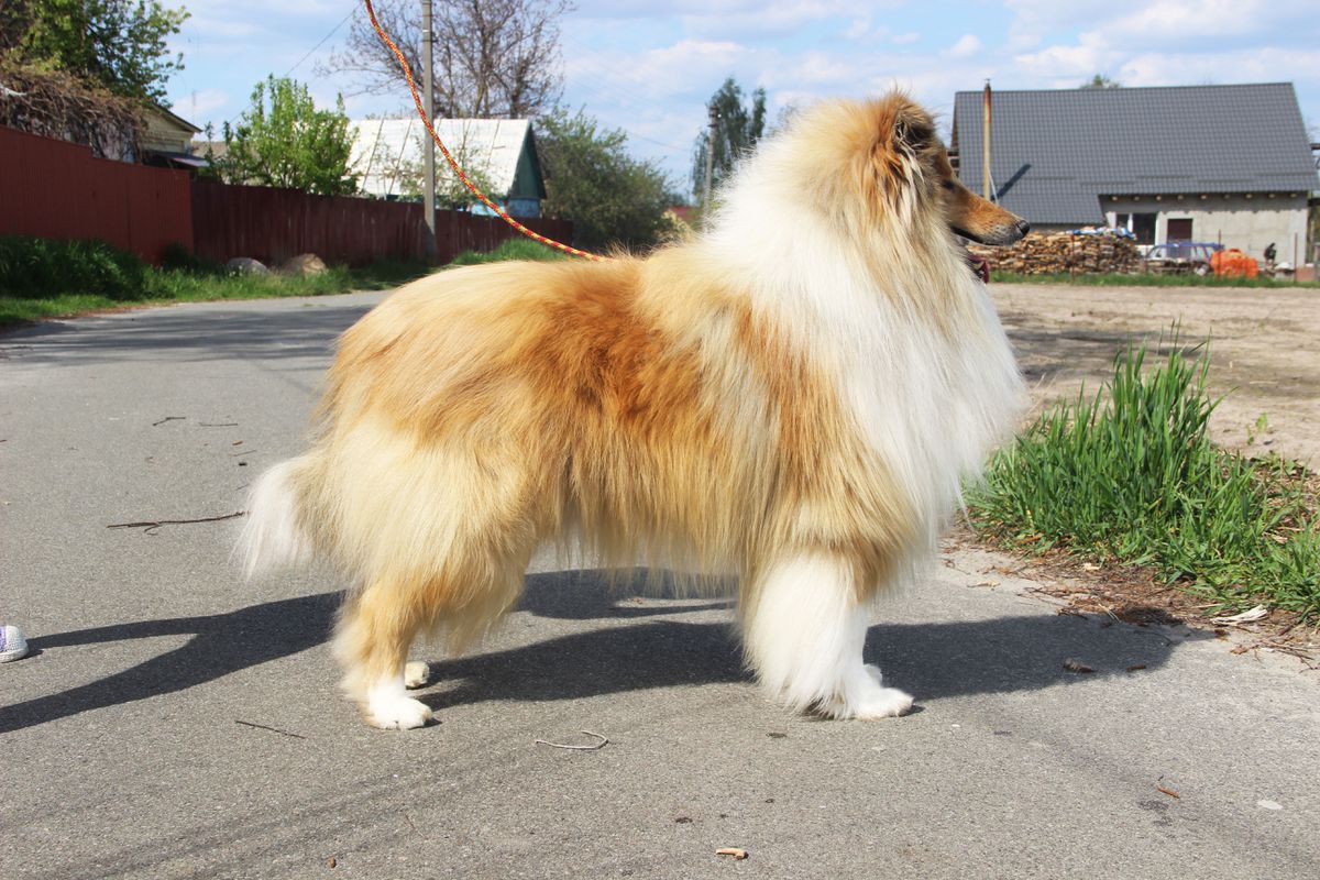
[[[352,96],[356,83],[315,74],[346,17],[364,15],[360,0],[183,5],[193,17],[173,47],[185,70],[169,98],[198,125],[236,119],[271,73],[292,71],[318,103],[343,92],[351,116],[411,108],[404,88]],[[627,131],[632,153],[684,191],[705,102],[727,75],[764,87],[771,119],[896,86],[945,124],[954,92],[986,78],[995,88],[1069,88],[1097,73],[1125,86],[1292,82],[1320,128],[1315,0],[577,0],[562,46],[562,102]]]

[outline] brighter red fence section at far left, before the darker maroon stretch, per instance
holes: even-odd
[[[170,241],[194,244],[189,174],[0,127],[0,235],[102,239],[160,263]]]

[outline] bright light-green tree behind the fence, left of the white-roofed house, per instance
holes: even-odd
[[[350,195],[358,175],[348,170],[352,132],[343,111],[317,110],[308,87],[286,77],[268,77],[252,91],[252,106],[239,124],[224,124],[226,154],[213,158],[214,174],[228,183],[256,183]]]

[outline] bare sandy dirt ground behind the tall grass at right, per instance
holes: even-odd
[[[1320,467],[1320,292],[1035,284],[990,290],[1038,406],[1076,394],[1081,383],[1097,388],[1130,336],[1154,348],[1180,322],[1184,342],[1210,340],[1210,391],[1225,396],[1210,420],[1216,442]]]

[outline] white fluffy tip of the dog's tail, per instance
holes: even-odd
[[[312,558],[313,541],[297,486],[309,463],[306,456],[281,462],[252,484],[248,520],[236,548],[248,579]]]

